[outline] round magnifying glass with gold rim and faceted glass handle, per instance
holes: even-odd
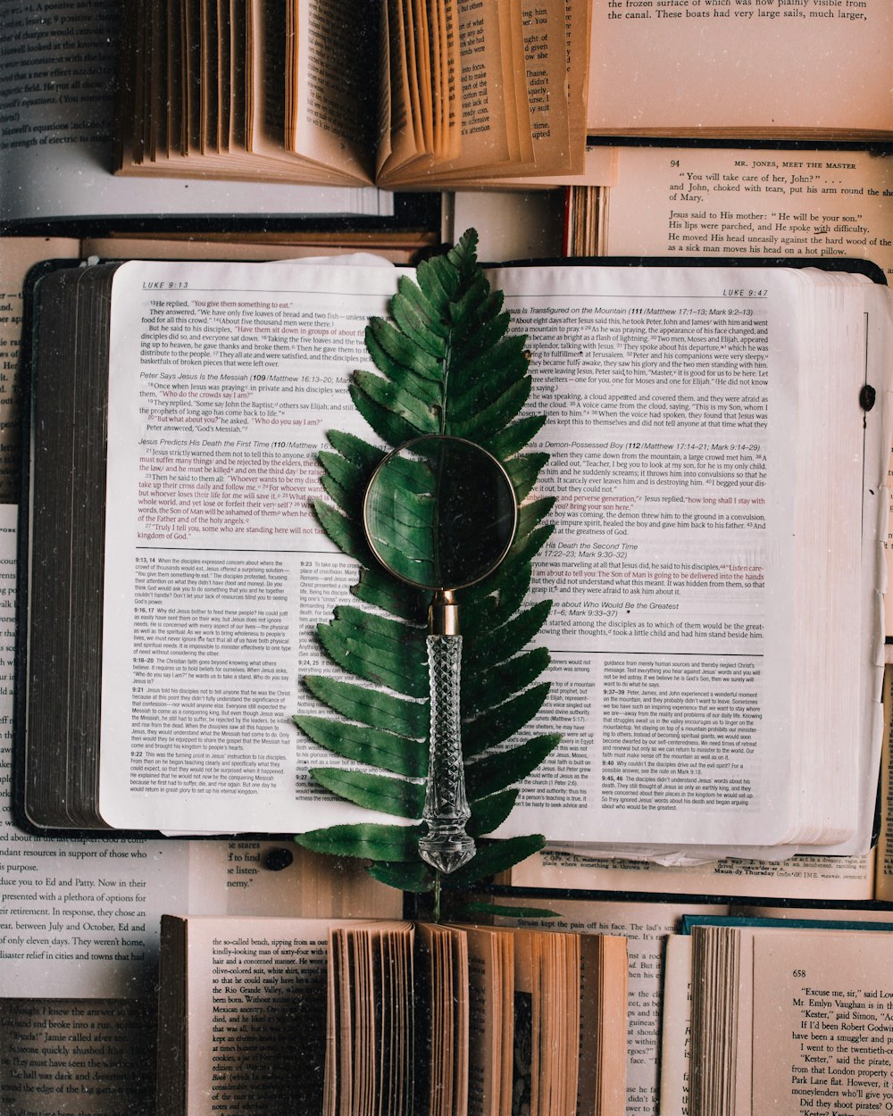
[[[419,840],[423,860],[443,873],[474,856],[465,833],[459,715],[462,636],[454,594],[482,580],[502,561],[518,523],[508,473],[487,450],[461,437],[426,434],[385,456],[363,500],[366,540],[384,568],[433,593],[428,662],[431,749]]]

